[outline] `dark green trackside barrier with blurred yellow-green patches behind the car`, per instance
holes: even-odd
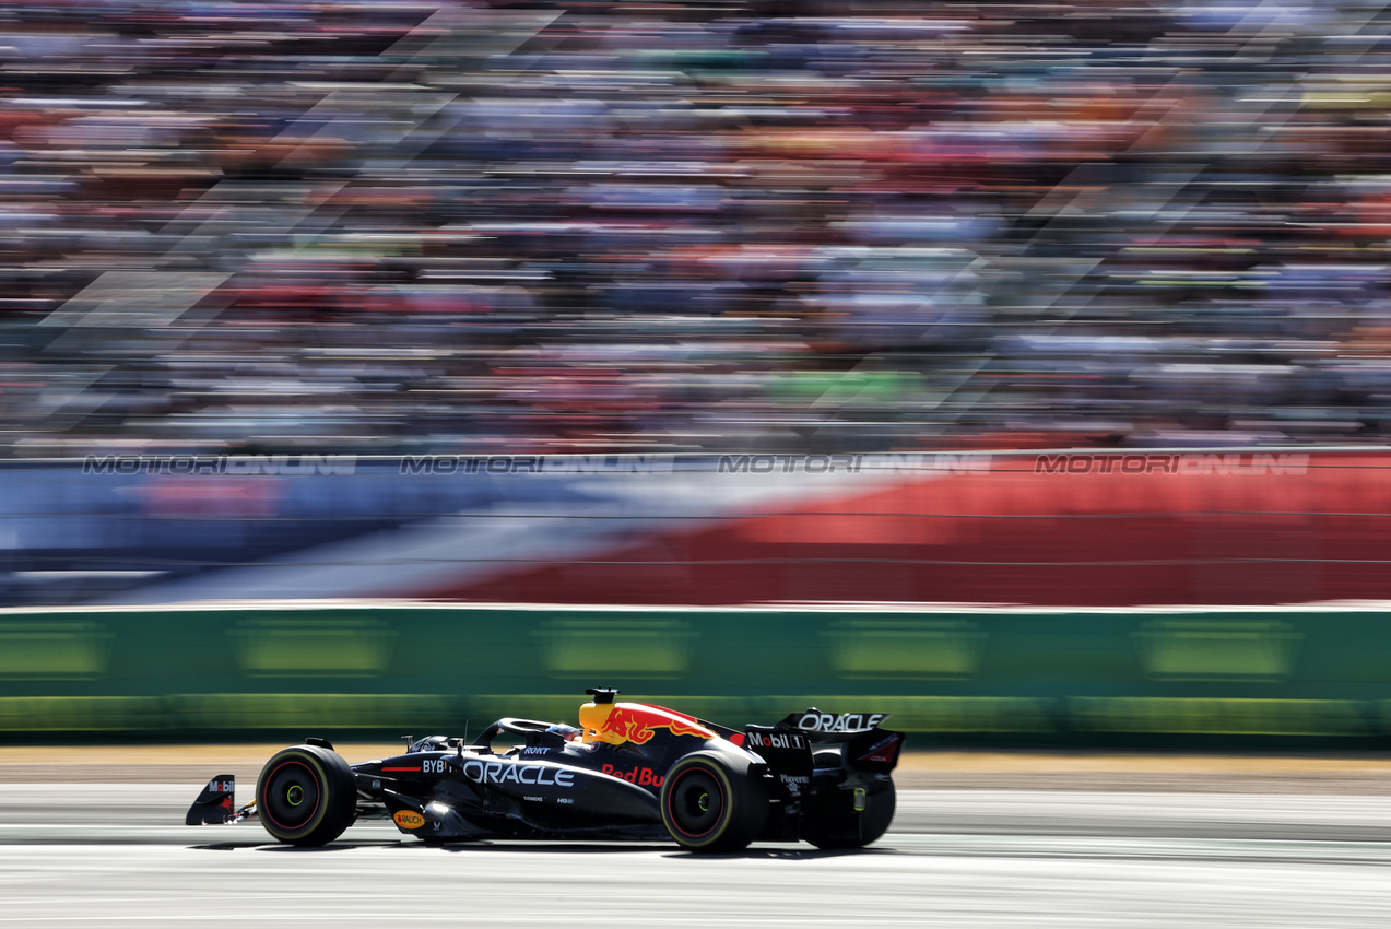
[[[618,686],[741,726],[817,705],[940,741],[1391,737],[1391,616],[245,605],[0,611],[0,740],[339,738],[574,722]],[[928,741],[932,741],[929,738]],[[924,741],[918,741],[924,744]]]

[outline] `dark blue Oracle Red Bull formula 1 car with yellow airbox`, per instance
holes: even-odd
[[[278,841],[323,846],[357,819],[389,818],[427,843],[477,839],[675,839],[736,851],[757,839],[858,848],[893,819],[903,733],[886,713],[810,708],[726,729],[591,688],[580,726],[499,719],[472,743],[430,736],[348,765],[323,738],[275,752],[256,800],[234,808],[218,775],[189,825],[262,821]],[[494,741],[520,743],[494,748]]]

